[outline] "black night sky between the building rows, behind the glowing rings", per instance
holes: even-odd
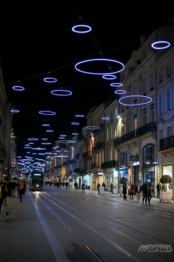
[[[10,8],[4,6],[1,69],[7,99],[14,109],[20,110],[14,114],[12,124],[17,137],[17,155],[26,154],[24,145],[28,138],[38,138],[35,147],[43,147],[42,138],[55,141],[60,134],[79,132],[86,125],[85,118],[78,119],[75,115],[86,116],[95,103],[106,101],[114,81],[103,79],[102,75],[79,72],[75,64],[103,58],[126,63],[133,50],[140,46],[140,36],[149,36],[156,28],[167,25],[173,15],[167,8],[157,11],[157,5],[149,5],[149,8],[137,10],[133,5],[110,0],[105,5],[101,1],[59,1],[57,6],[50,2],[42,6],[31,3],[27,7],[17,3]],[[80,24],[91,26],[92,31],[75,33],[71,30]],[[120,69],[114,63],[109,66],[112,71]],[[109,66],[92,62],[79,68],[110,72]],[[115,75],[119,79],[119,75]],[[54,77],[57,82],[46,83],[45,77]],[[19,85],[25,90],[12,89]],[[51,94],[52,90],[61,88],[73,94]],[[42,110],[54,111],[56,115],[41,115]],[[71,125],[78,121],[80,125]],[[42,126],[46,123],[54,132],[46,132],[47,127]],[[51,149],[50,145],[46,148]]]

